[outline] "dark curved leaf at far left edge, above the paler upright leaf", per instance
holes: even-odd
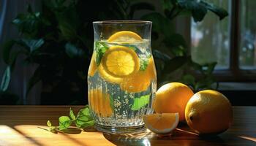
[[[4,42],[2,49],[3,49],[3,59],[5,64],[10,64],[10,53],[13,45],[15,45],[15,40],[13,39],[7,42]]]

